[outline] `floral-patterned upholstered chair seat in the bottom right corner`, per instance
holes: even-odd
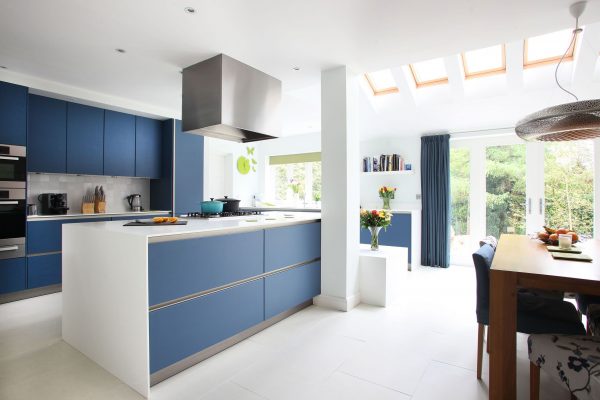
[[[600,399],[600,337],[530,335],[529,360],[578,399]]]

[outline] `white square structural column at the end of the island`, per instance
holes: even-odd
[[[360,302],[357,77],[321,73],[321,295],[315,304],[348,311]]]

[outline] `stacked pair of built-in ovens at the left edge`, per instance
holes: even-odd
[[[25,155],[23,146],[0,144],[0,259],[25,257]]]

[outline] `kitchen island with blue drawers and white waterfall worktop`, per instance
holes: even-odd
[[[312,304],[318,213],[63,226],[63,339],[150,386]]]

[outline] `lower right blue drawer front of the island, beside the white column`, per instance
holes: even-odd
[[[321,293],[321,262],[306,264],[265,278],[265,319]]]

